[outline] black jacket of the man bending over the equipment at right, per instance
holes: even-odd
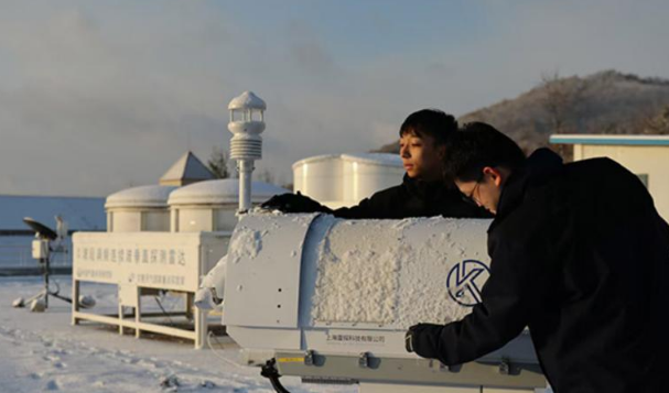
[[[528,326],[557,393],[669,389],[669,227],[634,174],[535,152],[503,189],[488,252],[482,303],[420,332],[419,354],[464,363]]]

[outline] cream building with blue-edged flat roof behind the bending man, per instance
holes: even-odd
[[[639,176],[665,220],[669,220],[669,135],[551,135],[572,144],[574,161],[609,157]]]

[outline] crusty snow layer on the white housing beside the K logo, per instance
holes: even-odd
[[[331,227],[317,248],[313,324],[406,329],[458,320],[471,312],[452,298],[447,275],[463,260],[485,255],[489,221],[321,221]],[[472,303],[465,284],[451,291],[460,293],[461,303]]]

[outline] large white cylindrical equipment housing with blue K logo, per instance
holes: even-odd
[[[544,387],[527,334],[456,368],[404,349],[407,328],[471,312],[489,220],[246,215],[228,249],[224,324],[245,362],[364,392]]]

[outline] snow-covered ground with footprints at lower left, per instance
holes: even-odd
[[[71,277],[55,280],[69,295]],[[273,392],[259,369],[237,364],[239,348],[227,337],[212,340],[214,349],[195,350],[192,341],[136,339],[96,324],[72,326],[69,305],[54,298],[42,314],[12,308],[12,299],[41,287],[41,277],[0,277],[0,392]],[[87,285],[84,292],[95,296],[97,312],[114,309],[110,286]],[[161,386],[169,376],[177,387]],[[281,381],[291,392],[357,391]]]

